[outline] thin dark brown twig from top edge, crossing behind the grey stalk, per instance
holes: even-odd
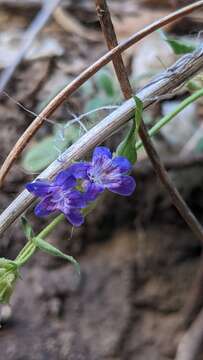
[[[113,23],[111,21],[111,15],[108,9],[107,2],[106,0],[95,0],[95,3],[107,46],[109,49],[112,49],[114,46],[117,45],[117,38]],[[123,91],[125,99],[127,100],[131,97],[133,91],[126,73],[125,65],[123,63],[121,54],[118,54],[118,56],[113,59],[113,64],[117,78],[120,83],[120,87]],[[156,172],[158,178],[161,180],[162,184],[170,195],[174,206],[177,208],[180,215],[188,224],[193,233],[203,242],[203,228],[201,224],[197,221],[193,213],[190,211],[182,196],[169,178],[162,164],[162,161],[159,158],[158,153],[152,144],[152,141],[147,133],[143,121],[140,124],[139,135],[143,142],[147,155],[154,167],[154,171]]]

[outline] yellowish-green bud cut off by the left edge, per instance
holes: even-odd
[[[0,303],[8,303],[19,277],[15,261],[0,258]]]

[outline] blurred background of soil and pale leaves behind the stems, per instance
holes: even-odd
[[[121,41],[192,1],[108,3]],[[0,75],[18,57],[25,31],[42,5],[40,0],[0,0]],[[199,10],[127,50],[123,57],[134,90],[179,58],[166,39],[195,48],[201,41],[202,23]],[[1,163],[35,114],[105,52],[94,1],[61,1],[1,93]],[[194,83],[201,87],[202,81],[200,74],[147,110],[147,126],[172,111]],[[108,65],[68,98],[31,140],[0,190],[1,211],[26,182],[122,102]],[[154,138],[170,176],[200,222],[202,120],[200,99]],[[122,135],[115,134],[106,144],[115,149]],[[190,160],[187,167],[186,159]],[[201,246],[171,205],[144,151],[133,176],[137,189],[130,198],[107,194],[81,228],[72,229],[64,222],[50,235],[50,242],[77,258],[80,279],[71,265],[46,254],[35,255],[25,266],[11,306],[0,308],[1,359],[174,359],[185,331]],[[31,210],[28,216],[36,231],[47,223],[36,219]],[[0,256],[14,258],[25,241],[17,222],[1,238]]]

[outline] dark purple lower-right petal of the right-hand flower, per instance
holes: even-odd
[[[132,176],[121,176],[120,181],[111,183],[107,188],[119,195],[129,196],[135,190],[136,183]]]

